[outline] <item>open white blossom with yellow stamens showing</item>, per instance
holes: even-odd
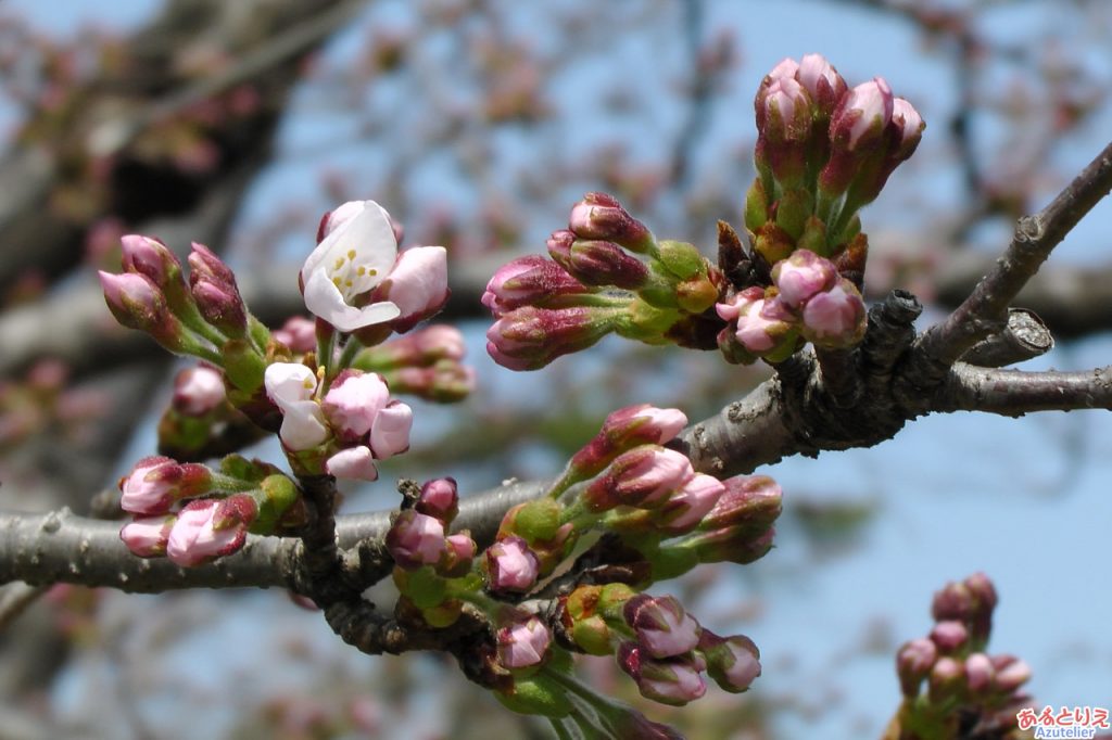
[[[345,218],[321,229],[324,240],[305,261],[301,287],[310,312],[349,332],[401,314],[390,301],[359,304],[394,268],[398,243],[389,214],[375,201],[353,201],[340,209]]]

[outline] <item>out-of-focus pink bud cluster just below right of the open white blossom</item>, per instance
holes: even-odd
[[[475,369],[463,363],[464,336],[436,323],[360,350],[351,367],[377,372],[395,393],[451,403],[475,390]]]

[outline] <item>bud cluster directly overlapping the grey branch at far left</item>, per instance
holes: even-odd
[[[274,466],[238,456],[220,470],[143,458],[120,479],[120,508],[132,514],[120,539],[141,558],[167,557],[185,567],[231,554],[248,532],[270,534],[304,518],[294,481]]]

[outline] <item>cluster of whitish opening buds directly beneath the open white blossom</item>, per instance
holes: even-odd
[[[281,411],[281,439],[295,472],[376,480],[375,460],[409,449],[413,409],[390,398],[374,372],[345,369],[330,382],[297,362],[266,369],[267,397]]]

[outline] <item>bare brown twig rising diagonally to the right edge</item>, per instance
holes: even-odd
[[[1015,296],[1065,234],[1109,190],[1112,190],[1112,143],[1046,208],[1020,219],[1015,237],[995,269],[942,323],[920,338],[924,359],[949,367],[979,341],[1000,331]]]

